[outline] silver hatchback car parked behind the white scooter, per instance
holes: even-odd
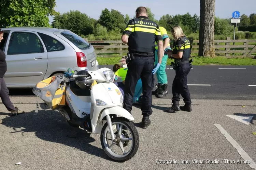
[[[3,28],[8,88],[32,88],[43,79],[73,70],[98,70],[94,47],[69,30],[44,27]]]

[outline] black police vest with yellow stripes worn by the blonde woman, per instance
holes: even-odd
[[[182,42],[181,48],[178,48],[176,44],[173,44],[173,50],[182,50],[183,51],[183,56],[180,60],[188,60],[189,56],[190,56],[190,50],[191,50],[190,49],[190,41],[186,36],[180,37],[179,39]]]

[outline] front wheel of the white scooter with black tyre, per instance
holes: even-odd
[[[126,161],[131,159],[138,151],[139,148],[139,134],[134,126],[133,122],[123,118],[123,117],[114,117],[111,119],[112,129],[114,135],[117,139],[116,142],[112,142],[111,133],[106,122],[102,128],[100,135],[101,146],[104,152],[112,159],[116,161]],[[124,130],[123,127],[126,127],[127,130]],[[129,132],[128,132],[129,131]],[[110,144],[108,143],[110,142]],[[128,145],[130,144],[131,149],[126,151]],[[112,150],[113,149],[113,150]],[[116,153],[115,151],[119,152]]]

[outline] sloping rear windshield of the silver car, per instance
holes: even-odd
[[[90,44],[86,40],[72,32],[63,31],[60,34],[70,40],[71,43],[73,43],[77,48],[81,50],[85,50],[90,47]]]

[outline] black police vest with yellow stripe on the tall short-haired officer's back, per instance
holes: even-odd
[[[129,52],[155,52],[157,24],[145,18],[134,18],[129,37]]]

